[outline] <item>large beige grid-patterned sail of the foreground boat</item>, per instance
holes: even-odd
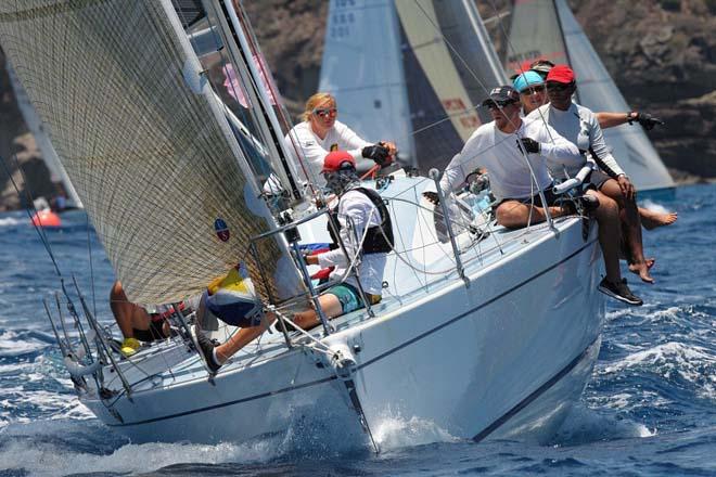
[[[169,0],[0,1],[0,44],[129,299],[176,301],[240,260],[265,298],[301,289]],[[264,279],[264,280],[261,280]]]

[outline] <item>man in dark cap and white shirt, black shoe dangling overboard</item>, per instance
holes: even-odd
[[[462,151],[452,157],[440,179],[443,193],[447,195],[459,189],[466,173],[482,166],[487,169],[493,194],[499,201],[496,208],[499,224],[521,228],[541,222],[547,219],[546,208],[552,217],[572,214],[574,210],[568,206],[557,205],[547,162],[584,162],[577,146],[544,121],[523,121],[520,94],[511,86],[495,88],[482,105],[489,108],[494,120],[477,128]],[[542,204],[538,190],[544,191],[547,204]],[[592,196],[593,191],[587,194]],[[606,270],[599,289],[622,301],[641,305],[619,271],[618,240],[614,238],[621,236],[616,204],[583,201],[586,209],[593,209],[599,222]]]

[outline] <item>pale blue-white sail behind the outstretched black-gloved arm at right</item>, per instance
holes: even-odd
[[[566,2],[557,0],[555,4],[570,61],[577,74],[581,104],[594,112],[630,111]],[[639,190],[674,186],[674,180],[640,126],[625,125],[605,129],[604,140],[613,147],[614,157]]]

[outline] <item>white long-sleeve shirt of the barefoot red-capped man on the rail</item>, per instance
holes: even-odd
[[[545,104],[529,113],[525,121],[547,121],[562,138],[576,144],[580,150],[588,151],[591,146],[604,164],[616,175],[624,173],[624,170],[606,147],[604,134],[597,116],[588,107],[572,103],[567,111],[560,111],[550,104]],[[563,179],[565,173],[566,177],[575,176],[585,163],[586,159],[583,156],[572,159],[558,157],[557,160],[549,159],[547,166],[552,177]]]

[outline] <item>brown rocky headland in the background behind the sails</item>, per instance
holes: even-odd
[[[484,17],[490,17],[496,8],[498,13],[508,12],[510,2],[477,3]],[[716,0],[568,3],[631,107],[666,121],[650,137],[675,179],[716,180]],[[328,2],[246,0],[244,4],[286,105],[296,114],[318,85]],[[499,25],[491,23],[489,29],[501,49]],[[1,51],[0,156],[23,194],[51,191],[47,169],[17,111]],[[18,206],[3,168],[0,210]]]

